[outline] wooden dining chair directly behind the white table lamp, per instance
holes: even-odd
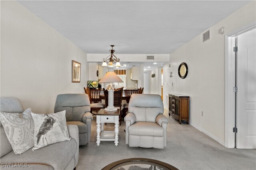
[[[123,88],[119,88],[114,91],[114,107],[116,107],[119,110],[119,125],[121,125],[122,120],[122,109],[124,108],[122,106],[122,95],[123,95]],[[108,90],[103,88],[104,97],[105,97],[105,106],[108,107]]]

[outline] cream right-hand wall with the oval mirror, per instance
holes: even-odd
[[[190,124],[222,145],[225,132],[225,34],[218,31],[225,26],[226,33],[229,33],[255,20],[253,1],[210,27],[210,40],[203,43],[202,34],[198,35],[172,52],[170,63],[164,65],[164,95],[179,93],[190,96]],[[178,76],[178,66],[182,62],[188,64],[185,79]],[[172,78],[170,71],[173,72]],[[204,116],[201,116],[201,111],[204,111]]]

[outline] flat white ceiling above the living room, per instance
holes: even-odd
[[[86,53],[169,54],[250,1],[18,1]]]

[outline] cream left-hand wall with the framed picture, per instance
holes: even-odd
[[[81,63],[81,82],[71,82],[72,60]],[[20,98],[24,109],[54,111],[56,96],[84,93],[84,51],[16,1],[1,1],[1,96]]]

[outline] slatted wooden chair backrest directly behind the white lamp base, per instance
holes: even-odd
[[[122,106],[122,94],[123,88],[118,88],[114,91],[114,106]],[[103,88],[104,97],[105,97],[105,107],[108,107],[108,90]]]

